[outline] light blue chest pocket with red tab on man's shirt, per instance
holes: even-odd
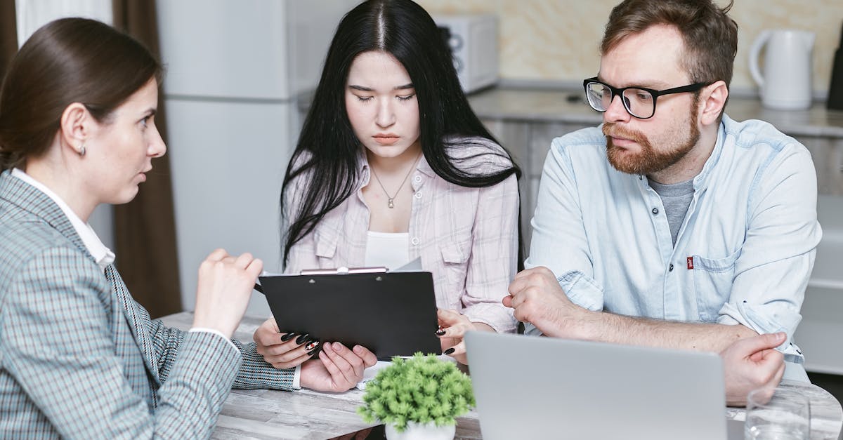
[[[717,259],[693,255],[694,293],[701,320],[717,320],[717,312],[723,303],[728,302],[740,254],[741,250],[738,249],[732,255]]]

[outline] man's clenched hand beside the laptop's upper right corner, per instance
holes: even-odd
[[[776,346],[781,346],[786,338],[784,333],[756,335],[735,341],[720,352],[727,405],[744,406],[749,391],[779,384],[785,364]]]

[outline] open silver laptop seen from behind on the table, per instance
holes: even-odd
[[[715,353],[476,331],[465,344],[484,440],[743,438],[741,421],[727,437]]]

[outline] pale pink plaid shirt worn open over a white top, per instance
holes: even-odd
[[[478,153],[502,149],[485,139],[450,150],[453,156],[469,158]],[[507,158],[481,156],[457,163],[462,169],[490,172],[510,166]],[[363,266],[366,257],[369,212],[362,187],[369,183],[369,167],[361,155],[361,186],[357,196],[328,212],[316,228],[293,245],[285,271]],[[289,207],[297,206],[297,179],[288,194]],[[510,175],[486,188],[466,188],[448,183],[430,168],[422,156],[411,176],[415,195],[410,217],[410,259],[421,257],[421,267],[433,275],[436,304],[455,309],[474,322],[498,332],[513,332],[513,310],[501,303],[513,280],[518,263],[518,180]],[[289,200],[289,199],[288,199]]]

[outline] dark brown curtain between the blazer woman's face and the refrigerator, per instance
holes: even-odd
[[[5,0],[0,0],[5,1]],[[114,26],[142,41],[160,59],[153,0],[112,0]],[[167,142],[163,90],[158,92],[155,125]],[[181,311],[179,260],[169,156],[153,161],[153,171],[137,197],[115,206],[116,264],[138,303],[153,318]]]

